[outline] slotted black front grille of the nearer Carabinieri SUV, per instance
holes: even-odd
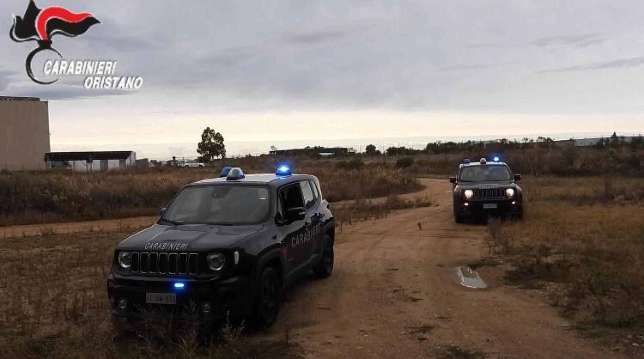
[[[132,253],[131,273],[197,274],[197,253]]]

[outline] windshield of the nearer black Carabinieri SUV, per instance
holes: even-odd
[[[182,189],[161,220],[173,224],[255,224],[268,216],[267,186],[222,184]]]

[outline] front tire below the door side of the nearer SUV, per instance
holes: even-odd
[[[278,273],[272,267],[261,271],[251,323],[256,329],[270,327],[278,320],[281,304],[281,283]]]

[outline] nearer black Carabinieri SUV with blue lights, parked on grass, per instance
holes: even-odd
[[[188,184],[155,225],[118,244],[108,277],[113,315],[191,306],[205,318],[245,316],[267,327],[292,280],[331,275],[334,217],[316,177],[285,165],[222,175]]]

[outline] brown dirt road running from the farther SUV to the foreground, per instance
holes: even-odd
[[[615,357],[580,338],[540,298],[498,284],[500,269],[480,271],[488,289],[446,278],[446,268],[487,253],[487,229],[455,224],[450,184],[424,183],[421,194],[439,206],[345,226],[333,275],[290,288],[278,324],[260,338],[288,333],[319,358]]]

